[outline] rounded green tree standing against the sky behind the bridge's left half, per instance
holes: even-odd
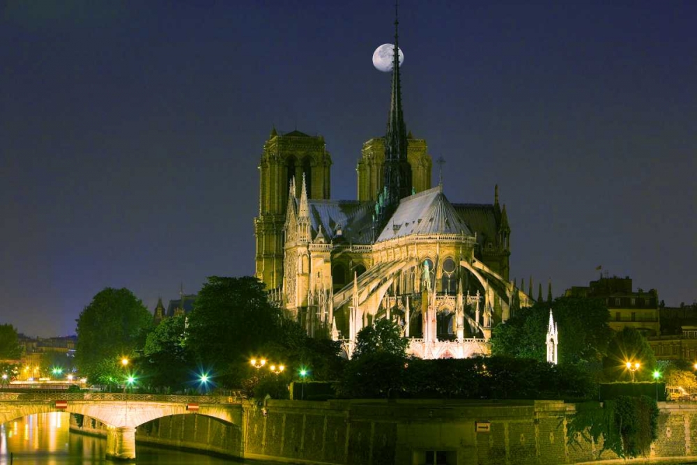
[[[119,359],[137,355],[152,321],[153,316],[128,289],[100,291],[77,319],[79,371],[91,383],[117,383],[123,378]]]

